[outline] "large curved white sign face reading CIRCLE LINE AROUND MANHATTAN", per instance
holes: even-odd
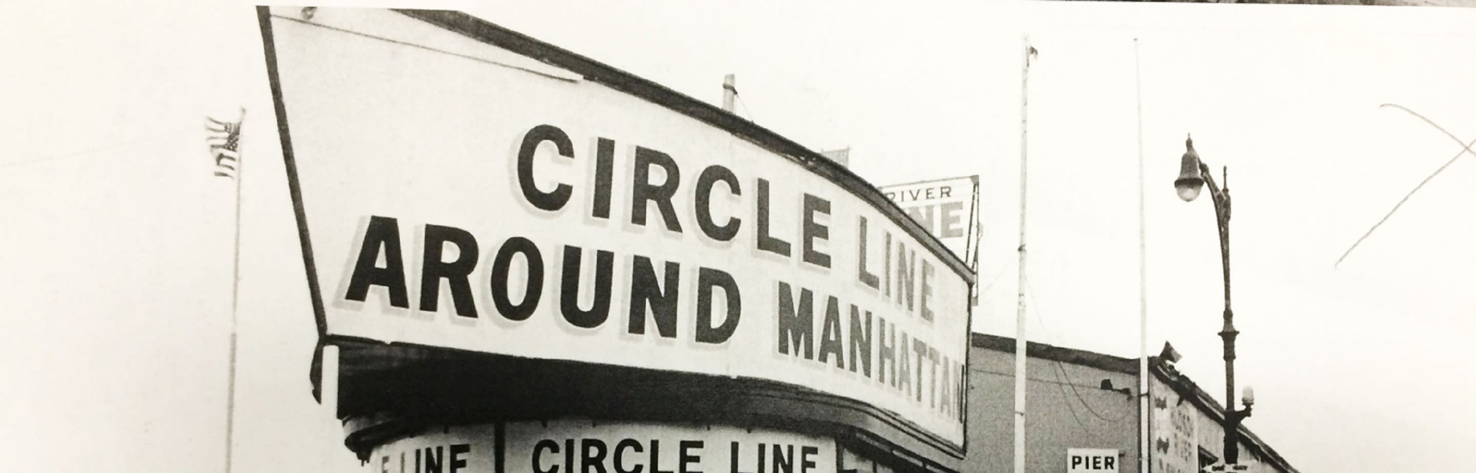
[[[971,276],[878,206],[400,13],[272,12],[328,336],[782,382],[962,445]]]

